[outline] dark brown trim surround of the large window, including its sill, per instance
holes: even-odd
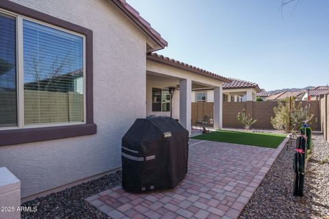
[[[86,36],[86,124],[1,130],[0,146],[86,136],[97,133],[97,126],[94,124],[93,115],[93,31],[8,0],[1,0],[0,8]]]

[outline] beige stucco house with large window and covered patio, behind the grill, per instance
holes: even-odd
[[[0,167],[25,200],[121,168],[121,138],[169,116],[169,87],[190,131],[191,90],[211,88],[222,126],[230,80],[151,54],[167,42],[123,0],[1,0],[0,26]]]

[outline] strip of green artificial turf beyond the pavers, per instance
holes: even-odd
[[[286,138],[284,135],[271,133],[253,133],[243,131],[212,131],[204,135],[192,137],[193,139],[208,140],[214,142],[227,142],[234,144],[247,144],[252,146],[264,146],[276,149]]]

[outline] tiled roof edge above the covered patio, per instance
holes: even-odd
[[[223,77],[221,75],[217,75],[215,73],[211,73],[208,70],[204,70],[202,68],[197,68],[195,66],[191,66],[189,64],[186,64],[184,62],[180,62],[177,60],[173,60],[169,57],[164,57],[163,55],[158,55],[157,53],[151,53],[151,54],[147,54],[147,59],[148,60],[152,60],[155,62],[160,62],[162,64],[167,64],[170,66],[175,66],[177,68],[182,68],[184,70],[189,70],[193,73],[197,73],[199,75],[204,75],[206,77],[212,77],[214,79],[217,79],[219,81],[223,81],[223,82],[229,82],[230,79],[228,79],[227,77]]]

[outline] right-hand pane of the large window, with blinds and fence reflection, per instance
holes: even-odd
[[[84,121],[83,38],[23,20],[25,125]]]

